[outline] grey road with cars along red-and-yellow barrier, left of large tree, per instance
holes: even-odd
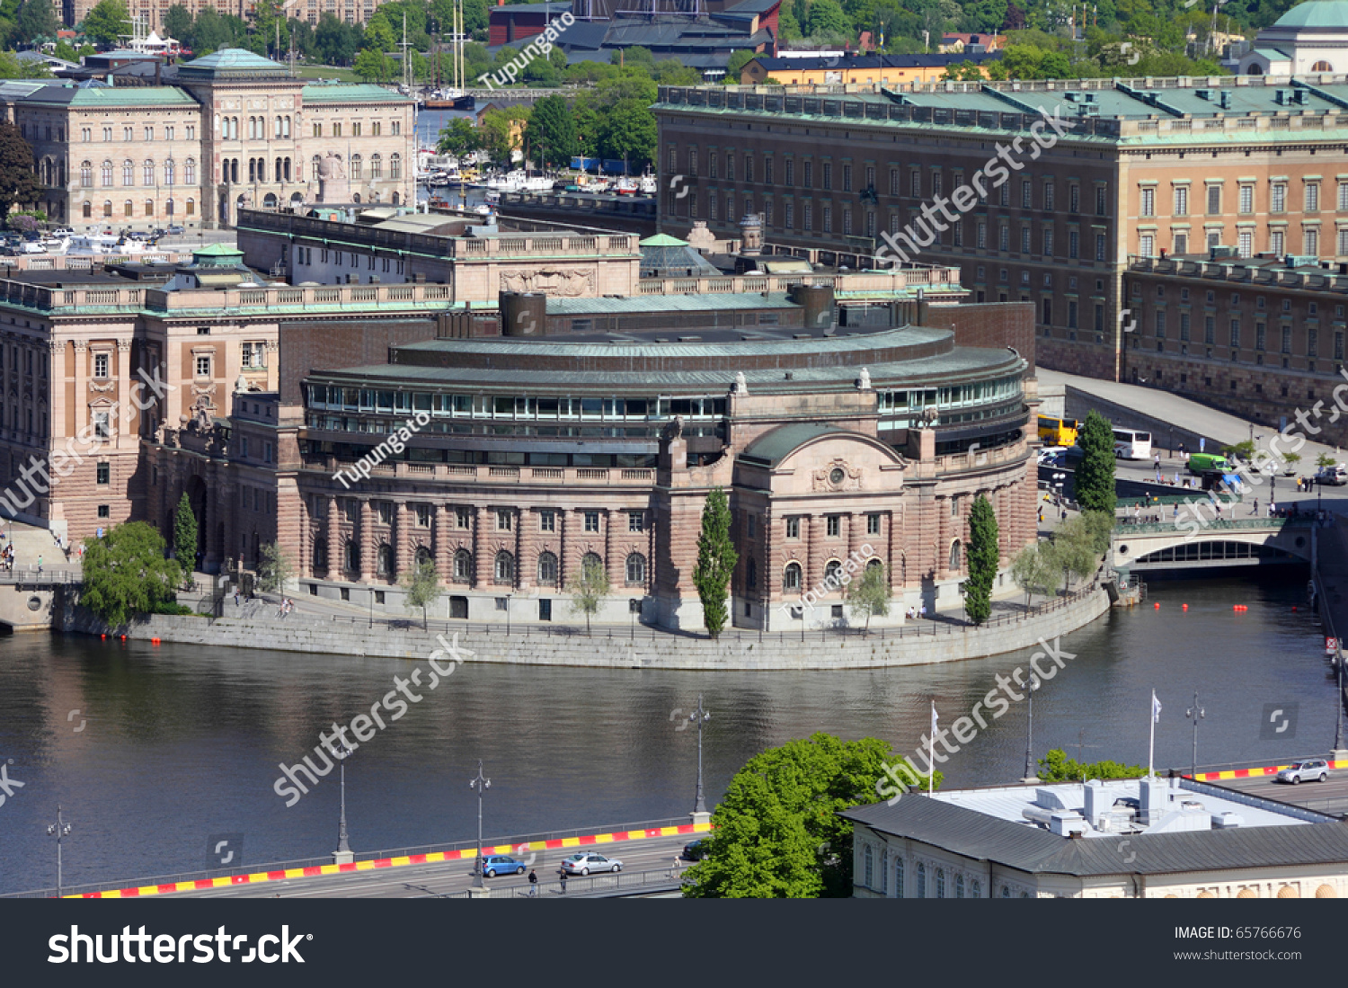
[[[557,869],[563,857],[577,851],[589,851],[616,857],[623,863],[623,872],[640,872],[658,868],[671,868],[674,856],[683,845],[696,840],[693,836],[648,837],[644,840],[613,841],[612,844],[589,845],[585,848],[553,848],[532,852],[530,865],[538,872],[541,883],[549,883],[543,890],[546,898],[557,896]],[[515,855],[522,861],[530,861],[530,852]],[[686,865],[687,863],[685,863]],[[174,896],[202,899],[418,899],[462,894],[473,884],[473,863],[443,861],[439,864],[412,864],[399,868],[377,868],[372,871],[345,872],[341,875],[321,875],[315,877],[284,879],[260,884],[225,886],[191,892],[173,892]],[[518,894],[528,892],[528,872],[510,877],[487,879],[492,888],[514,888]],[[584,895],[590,880],[580,876],[568,880],[569,895]],[[599,884],[601,880],[596,880]]]

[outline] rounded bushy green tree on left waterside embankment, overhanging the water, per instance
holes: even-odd
[[[80,603],[112,627],[173,604],[182,570],[164,558],[164,549],[163,535],[144,522],[116,524],[101,539],[85,539]]]

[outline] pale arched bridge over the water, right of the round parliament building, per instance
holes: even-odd
[[[1212,566],[1267,566],[1314,561],[1310,516],[1177,520],[1120,524],[1111,555],[1116,570],[1146,573]]]

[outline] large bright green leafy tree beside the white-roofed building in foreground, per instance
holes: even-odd
[[[749,759],[725,790],[683,873],[696,899],[852,895],[852,824],[840,810],[875,802],[890,745],[816,733]]]

